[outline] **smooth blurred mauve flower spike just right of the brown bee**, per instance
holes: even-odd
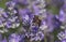
[[[54,15],[51,12],[47,12],[47,26],[48,26],[48,31],[53,31],[54,30],[54,26],[53,26],[53,17]]]

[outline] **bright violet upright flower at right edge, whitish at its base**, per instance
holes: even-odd
[[[64,9],[61,9],[61,11],[59,11],[59,20],[62,22],[62,26],[61,26],[61,28],[62,29],[65,29],[66,28],[66,15],[65,15],[65,11],[64,11]]]

